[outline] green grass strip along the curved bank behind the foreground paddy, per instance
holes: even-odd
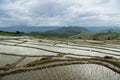
[[[102,57],[96,57],[96,58],[69,58],[70,61],[89,61],[89,60],[97,60],[97,61],[103,61],[103,62],[107,62],[110,63],[114,66],[120,67],[120,62],[115,60],[114,58],[111,59],[106,59],[106,58],[102,58]],[[59,59],[43,59],[43,60],[36,60],[34,62],[28,63],[25,65],[25,67],[34,67],[34,66],[38,66],[38,65],[43,65],[43,64],[48,64],[48,63],[52,63],[52,62],[57,62],[57,61],[64,61],[64,60],[59,60]]]

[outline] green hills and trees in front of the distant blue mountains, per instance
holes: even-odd
[[[71,39],[80,39],[80,40],[120,40],[119,32],[99,32],[93,33],[82,27],[61,27],[56,30],[48,30],[46,32],[5,32],[0,31],[0,35],[6,36],[33,36],[36,38],[42,39],[53,39],[53,40],[71,40]]]

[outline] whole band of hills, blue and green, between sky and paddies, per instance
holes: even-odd
[[[24,27],[24,28],[23,28]],[[99,32],[97,28],[93,28],[95,31],[91,31],[89,28],[83,27],[26,27],[18,26],[9,28],[0,28],[0,35],[29,35],[29,36],[44,36],[44,37],[64,37],[72,39],[90,39],[90,40],[120,40],[120,28],[101,28]],[[2,30],[5,29],[6,31]],[[14,29],[14,30],[12,30]],[[17,31],[16,31],[17,30]],[[23,31],[23,32],[22,32]],[[25,32],[24,32],[25,31]]]

